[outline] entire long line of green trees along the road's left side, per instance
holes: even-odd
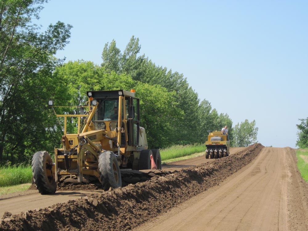
[[[232,128],[229,115],[201,101],[183,74],[139,55],[134,36],[123,53],[115,40],[107,43],[101,65],[56,59],[69,43],[72,26],[57,22],[39,32],[31,18],[39,18],[44,2],[2,1],[0,6],[0,164],[29,163],[34,152],[60,146],[63,121],[55,113],[78,114],[86,91],[135,89],[150,148],[204,143],[209,130],[225,125],[233,145],[256,142],[255,121]],[[66,107],[54,111],[47,106],[49,99]],[[76,121],[68,122],[67,131],[76,132]]]

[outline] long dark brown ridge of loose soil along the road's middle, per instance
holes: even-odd
[[[131,230],[219,184],[249,164],[262,148],[253,144],[231,156],[171,174],[154,171],[151,180],[38,211],[5,213],[0,230]]]

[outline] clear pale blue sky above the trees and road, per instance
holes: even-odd
[[[295,148],[308,117],[308,1],[51,0],[46,29],[74,26],[58,58],[102,63],[105,43],[123,52],[134,35],[140,55],[183,73],[201,100],[233,126],[256,120],[264,146]]]

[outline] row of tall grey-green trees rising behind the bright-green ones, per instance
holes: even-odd
[[[162,132],[161,137],[154,134],[153,136],[150,135],[157,139],[168,136],[169,144],[161,142],[157,144],[158,146],[164,147],[161,146],[164,144],[203,143],[207,139],[208,130],[220,130],[225,125],[229,127],[229,139],[232,138],[232,120],[228,114],[218,114],[216,109],[212,110],[210,103],[206,100],[200,103],[198,94],[189,86],[183,74],[176,71],[172,72],[167,67],[158,66],[145,55],[138,56],[140,48],[139,39],[134,36],[130,39],[123,55],[116,47],[114,40],[109,46],[106,43],[103,50],[102,67],[106,67],[109,73],[115,71],[115,73],[130,75],[133,80],[138,81],[138,84],[145,83],[156,87],[160,85],[167,91],[174,92],[170,102],[177,105],[181,113],[173,115],[173,121],[176,121],[176,123],[172,127],[174,131],[172,136],[168,134],[168,129],[159,130]],[[159,97],[156,100],[160,102]],[[150,108],[148,109],[151,110]],[[167,109],[161,107],[160,110]],[[149,115],[145,116],[147,120],[144,121],[149,122],[151,116],[156,117],[155,114],[150,112]],[[156,123],[158,121],[160,121],[160,125],[166,125],[161,120],[157,120]],[[168,120],[166,119],[166,121]],[[176,136],[173,136],[173,134],[176,134]],[[153,142],[155,141],[153,140]]]

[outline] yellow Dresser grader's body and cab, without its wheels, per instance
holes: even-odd
[[[61,143],[63,148],[55,148],[55,175],[97,176],[99,155],[105,151],[114,152],[120,167],[126,168],[128,161],[139,159],[140,152],[148,149],[144,128],[140,127],[139,99],[134,93],[119,91],[91,91],[91,100],[96,106],[87,106],[87,121],[79,134],[67,134],[66,126]],[[118,108],[114,116],[110,109]],[[84,114],[84,113],[82,113]],[[66,118],[70,115],[63,115]],[[72,115],[75,116],[75,115]],[[80,118],[78,125],[80,124]],[[81,124],[80,124],[81,125]],[[119,126],[120,125],[120,126]],[[81,126],[80,126],[81,127]],[[58,177],[55,176],[58,180]]]

